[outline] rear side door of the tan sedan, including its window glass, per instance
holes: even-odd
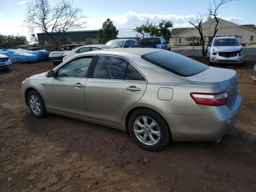
[[[143,96],[147,82],[126,59],[98,56],[86,82],[88,117],[118,124],[124,112]]]

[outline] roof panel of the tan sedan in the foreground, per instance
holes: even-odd
[[[137,54],[137,55],[144,55],[152,52],[157,51],[166,51],[163,49],[155,49],[155,48],[115,48],[115,49],[104,49],[104,50],[96,50],[92,52],[85,52],[80,55],[88,55],[88,54],[112,54],[112,55],[120,55],[124,53],[128,54]]]

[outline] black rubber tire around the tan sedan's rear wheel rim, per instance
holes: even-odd
[[[160,130],[160,138],[159,138],[158,142],[156,142],[156,144],[154,144],[154,145],[147,145],[147,144],[142,143],[135,135],[134,123],[138,118],[140,118],[142,116],[147,116],[147,117],[151,118],[152,120],[154,120],[158,124],[159,130]],[[164,118],[162,118],[162,116],[160,116],[160,114],[158,114],[157,112],[150,110],[150,109],[138,109],[135,112],[133,112],[128,121],[128,129],[129,129],[130,136],[135,141],[135,143],[138,146],[140,146],[142,149],[145,149],[148,151],[155,151],[155,152],[160,151],[163,148],[165,148],[168,145],[168,143],[170,142],[171,133],[170,133],[170,128],[169,128],[168,124],[166,123]],[[149,139],[149,136],[147,136],[146,140],[148,140],[148,139]]]

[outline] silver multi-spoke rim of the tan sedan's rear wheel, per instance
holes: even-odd
[[[134,133],[138,140],[146,145],[154,145],[160,140],[160,128],[156,121],[147,116],[141,116],[134,122]]]

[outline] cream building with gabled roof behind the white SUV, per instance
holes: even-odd
[[[240,43],[252,44],[256,42],[256,27],[254,24],[238,25],[224,19],[218,18],[218,32],[216,36],[237,36]],[[216,20],[208,17],[208,21],[201,24],[204,35],[205,44],[212,40],[214,34]],[[174,45],[186,45],[189,42],[185,39],[191,36],[200,37],[198,29],[193,28],[173,28],[172,40]]]

